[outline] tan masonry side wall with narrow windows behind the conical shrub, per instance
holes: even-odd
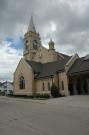
[[[65,72],[60,73],[60,74],[55,74],[53,78],[36,80],[36,92],[37,93],[50,93],[50,91],[48,90],[48,82],[50,83],[50,86],[52,86],[52,83],[54,83],[62,95],[65,95],[65,96],[69,95],[68,79]],[[64,89],[62,87],[62,82],[64,85]],[[45,86],[45,90],[43,90],[43,83]]]

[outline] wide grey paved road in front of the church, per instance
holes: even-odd
[[[41,102],[0,97],[0,135],[89,135],[89,96]]]

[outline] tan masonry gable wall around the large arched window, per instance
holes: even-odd
[[[25,79],[25,89],[20,90],[19,88],[19,79],[23,76]],[[14,73],[14,94],[15,95],[30,95],[32,94],[34,80],[33,72],[29,65],[21,60],[17,66],[17,69]]]

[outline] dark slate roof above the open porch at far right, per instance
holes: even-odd
[[[73,66],[70,68],[68,74],[82,74],[89,72],[89,59],[85,60],[85,57],[79,58],[75,61]]]

